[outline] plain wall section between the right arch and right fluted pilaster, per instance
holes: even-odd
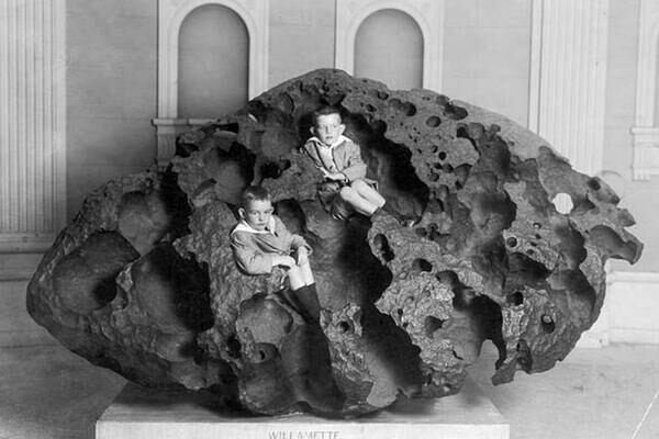
[[[446,0],[444,90],[526,126],[528,0]]]

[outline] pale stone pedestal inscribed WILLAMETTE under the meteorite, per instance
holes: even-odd
[[[235,417],[189,394],[127,384],[96,425],[97,439],[509,439],[510,426],[471,381],[458,395],[414,399],[358,419]]]

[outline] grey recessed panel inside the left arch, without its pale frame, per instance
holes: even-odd
[[[178,117],[208,119],[247,102],[249,35],[241,16],[224,5],[190,12],[179,33]]]

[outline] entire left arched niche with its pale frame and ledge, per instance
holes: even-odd
[[[158,0],[158,117],[153,124],[159,165],[174,156],[178,134],[266,91],[269,4],[270,0]],[[227,50],[228,44],[233,46]]]

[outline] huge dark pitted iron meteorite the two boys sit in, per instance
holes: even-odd
[[[300,149],[322,105],[342,111],[388,210],[328,213]],[[277,299],[280,269],[248,275],[233,260],[250,183],[313,247],[320,325]],[[600,313],[604,262],[640,257],[618,201],[503,116],[316,70],[180,136],[167,170],[93,191],[27,307],[74,352],[139,384],[260,414],[354,416],[458,392],[485,340],[495,383],[562,360]]]

